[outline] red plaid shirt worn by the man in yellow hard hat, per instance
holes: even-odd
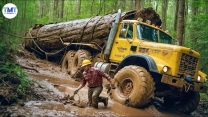
[[[88,87],[101,86],[103,83],[102,77],[105,77],[107,80],[110,80],[110,76],[98,68],[91,67],[89,72],[82,73],[82,86],[85,86],[88,83]]]

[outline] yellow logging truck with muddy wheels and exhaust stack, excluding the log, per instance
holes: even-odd
[[[207,75],[199,70],[200,54],[175,44],[169,33],[150,21],[121,20],[121,14],[119,10],[103,47],[63,42],[67,52],[62,70],[80,77],[82,61],[90,59],[94,67],[113,78],[116,89],[109,93],[113,100],[143,107],[158,97],[182,113],[193,112],[200,101],[199,93],[207,92],[203,84]]]

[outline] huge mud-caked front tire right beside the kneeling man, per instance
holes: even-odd
[[[116,73],[114,81],[111,98],[121,104],[142,107],[154,96],[154,81],[143,67],[126,66]]]

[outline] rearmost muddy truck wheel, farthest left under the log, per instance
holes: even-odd
[[[68,74],[71,71],[71,64],[72,60],[74,58],[76,51],[75,50],[69,50],[67,54],[64,56],[64,59],[61,64],[62,71],[66,71]]]

